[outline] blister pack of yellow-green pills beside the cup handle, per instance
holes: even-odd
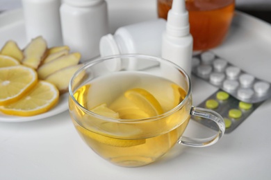
[[[243,121],[250,115],[252,112],[261,105],[262,102],[257,103],[247,103],[240,101],[233,96],[231,96],[229,93],[218,90],[215,93],[213,93],[211,96],[206,98],[202,103],[197,105],[197,107],[203,107],[206,109],[211,109],[213,111],[216,111],[218,114],[224,118],[225,122],[225,133],[230,133],[238,125],[243,123]],[[217,126],[213,121],[206,120],[198,117],[192,116],[193,120],[196,120],[197,122],[210,127],[211,129],[217,130]]]

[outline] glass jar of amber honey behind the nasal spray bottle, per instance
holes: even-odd
[[[235,0],[183,0],[189,13],[193,50],[204,51],[219,46],[233,19]],[[172,0],[157,0],[158,17],[167,19]]]

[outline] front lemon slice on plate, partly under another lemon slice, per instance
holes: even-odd
[[[33,89],[16,102],[0,106],[0,111],[9,115],[34,116],[54,107],[58,98],[59,92],[54,84],[40,80]]]

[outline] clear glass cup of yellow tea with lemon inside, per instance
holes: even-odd
[[[160,57],[99,57],[74,74],[69,95],[69,114],[77,132],[94,152],[115,165],[147,165],[177,143],[213,145],[225,130],[215,111],[192,106],[186,72]],[[215,136],[182,136],[191,115],[214,122]]]

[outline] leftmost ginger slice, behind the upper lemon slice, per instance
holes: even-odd
[[[6,44],[3,46],[0,52],[1,55],[8,55],[10,57],[15,58],[15,60],[18,60],[19,62],[22,62],[24,58],[24,54],[17,45],[16,42],[13,40],[9,40],[6,42]]]

